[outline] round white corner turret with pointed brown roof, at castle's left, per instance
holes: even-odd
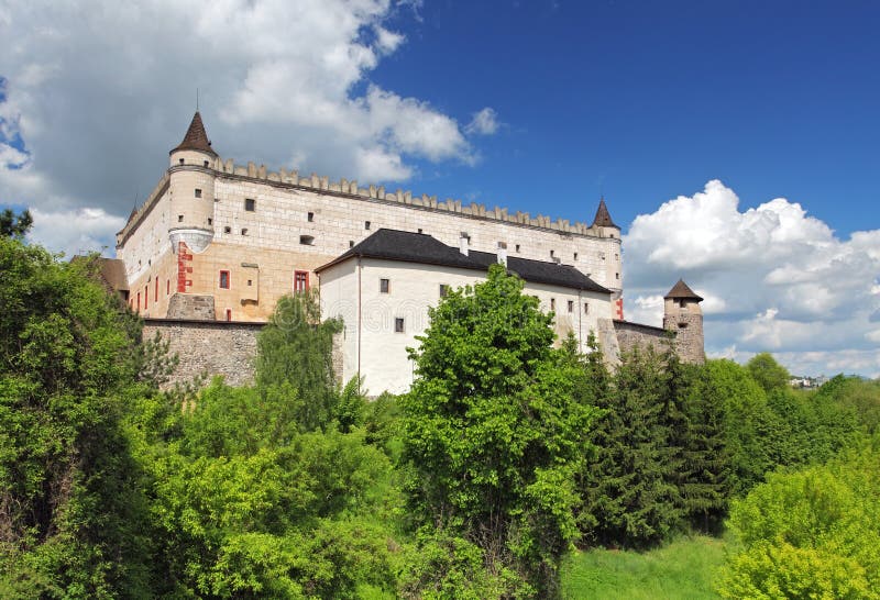
[[[211,148],[198,111],[184,141],[168,154],[168,238],[172,249],[177,253],[180,242],[184,242],[195,253],[205,252],[213,240],[213,168],[218,156]]]

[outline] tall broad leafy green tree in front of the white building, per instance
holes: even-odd
[[[417,525],[462,537],[491,573],[519,573],[547,597],[576,532],[573,476],[593,410],[573,398],[552,314],[521,291],[493,266],[429,311],[410,352],[418,378],[400,399],[404,457]]]

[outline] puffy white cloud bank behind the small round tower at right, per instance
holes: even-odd
[[[880,230],[842,240],[784,198],[740,210],[713,180],[637,216],[624,245],[628,319],[659,324],[658,292],[683,277],[706,299],[711,356],[771,351],[798,373],[880,375]]]

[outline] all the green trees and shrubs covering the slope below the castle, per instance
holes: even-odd
[[[278,303],[252,386],[161,391],[174,358],[95,265],[16,237],[0,235],[0,597],[708,593],[728,515],[725,597],[878,589],[877,382],[795,391],[769,355],[693,366],[668,346],[612,374],[554,346],[494,267],[430,311],[399,398],[336,382],[340,324],[308,293]]]

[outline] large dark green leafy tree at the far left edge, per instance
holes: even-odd
[[[6,593],[147,596],[145,499],[123,429],[129,398],[150,393],[139,325],[91,260],[0,236],[0,273]]]

